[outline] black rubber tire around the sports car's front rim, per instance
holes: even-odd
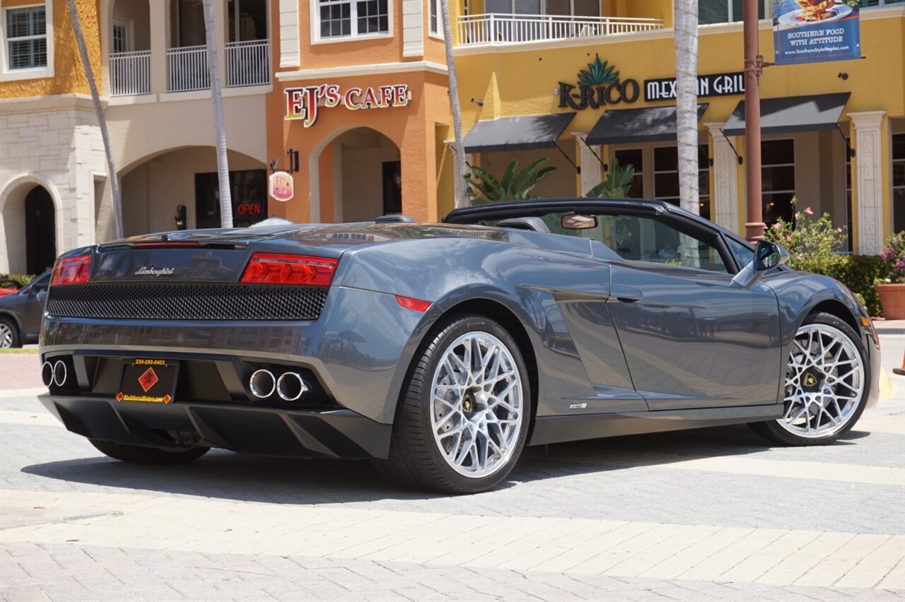
[[[780,420],[769,420],[767,422],[752,422],[748,426],[754,430],[758,435],[762,437],[767,437],[767,439],[778,443],[782,446],[795,446],[795,447],[804,447],[804,446],[822,446],[827,443],[832,443],[839,437],[842,437],[845,433],[852,430],[855,423],[858,422],[858,419],[861,418],[862,412],[864,411],[864,407],[867,405],[867,399],[871,392],[871,378],[870,378],[870,368],[867,363],[867,353],[864,350],[864,343],[860,336],[853,330],[852,326],[847,325],[843,320],[839,319],[835,315],[825,314],[825,313],[816,313],[808,315],[805,318],[805,321],[799,327],[799,333],[808,325],[826,325],[831,326],[841,334],[844,334],[853,344],[854,349],[861,357],[861,365],[863,370],[863,390],[861,393],[861,397],[858,400],[853,400],[850,403],[856,403],[853,410],[848,413],[846,422],[842,428],[835,430],[834,432],[827,434],[822,437],[802,437],[795,435],[795,433],[789,432],[786,428],[783,428],[780,425]],[[787,362],[791,362],[791,357],[788,358]],[[846,408],[848,406],[845,406]],[[832,411],[832,409],[831,409]],[[786,415],[786,409],[784,409],[784,416]],[[820,415],[818,414],[818,420],[820,419]]]

